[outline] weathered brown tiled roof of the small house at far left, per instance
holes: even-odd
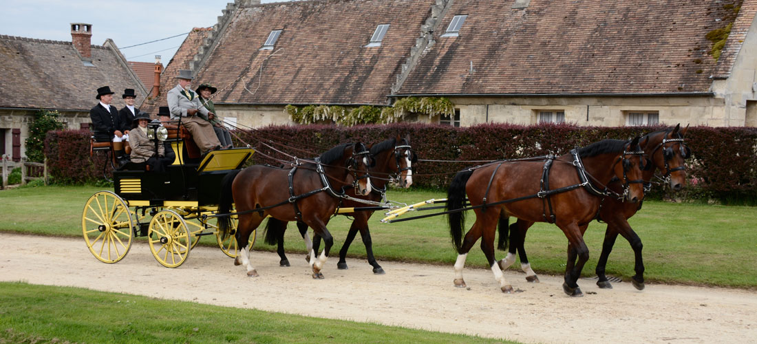
[[[0,56],[0,107],[89,111],[101,86],[117,95],[140,89],[117,53],[101,45],[92,45],[94,66],[85,66],[71,42],[0,35]],[[113,104],[123,107],[120,97]]]

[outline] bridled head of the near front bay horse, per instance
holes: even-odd
[[[644,142],[649,138],[645,138]],[[623,152],[613,166],[615,177],[623,181],[623,197],[631,203],[637,203],[644,199],[642,169],[644,167],[644,150],[639,144],[640,138],[628,141],[623,147]],[[618,163],[620,162],[620,163]]]

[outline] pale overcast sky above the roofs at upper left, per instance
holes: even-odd
[[[5,0],[0,34],[70,42],[70,23],[89,23],[92,44],[113,39],[126,60],[154,62],[155,55],[160,55],[165,65],[185,35],[123,47],[185,34],[193,27],[213,26],[229,2],[233,0]]]

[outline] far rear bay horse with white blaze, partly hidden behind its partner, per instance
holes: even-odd
[[[363,200],[369,200],[372,202],[379,202],[386,200],[386,184],[390,179],[397,180],[397,184],[400,187],[408,188],[413,184],[413,170],[412,165],[417,161],[416,154],[413,152],[413,148],[410,147],[410,135],[406,135],[404,138],[399,136],[395,138],[389,138],[378,144],[374,144],[370,148],[371,157],[375,159],[375,166],[369,168],[369,173],[372,176],[370,179],[371,192],[366,196],[356,194],[352,190],[347,190],[345,193],[349,197],[360,198]],[[382,178],[378,176],[388,177]],[[368,206],[365,203],[360,203],[354,200],[344,199],[341,203],[343,208],[352,207],[364,207]],[[337,268],[340,270],[347,269],[347,251],[350,249],[350,244],[355,239],[357,232],[360,231],[360,237],[363,239],[363,245],[366,246],[366,256],[368,263],[373,267],[374,274],[385,274],[381,265],[378,265],[375,257],[373,256],[373,247],[371,234],[368,228],[368,220],[373,215],[373,211],[357,211],[349,212],[341,215],[352,216],[352,225],[347,232],[347,238],[344,240],[344,245],[339,250],[339,262],[337,262]],[[307,237],[307,224],[304,222],[297,222],[298,229],[303,239],[305,240],[307,250],[314,249],[318,251],[321,237],[316,235],[313,237],[313,241],[310,241],[310,237]],[[266,225],[265,242],[273,245],[277,245],[276,252],[279,253],[281,261],[279,265],[289,266],[289,260],[286,258],[284,252],[284,232],[286,230],[286,223],[274,220],[269,220]],[[310,256],[307,256],[309,259]]]

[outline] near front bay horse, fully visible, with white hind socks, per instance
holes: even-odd
[[[643,199],[639,138],[631,141],[603,140],[571,150],[560,157],[489,163],[458,172],[447,190],[450,237],[457,250],[455,287],[466,287],[463,267],[470,249],[481,238],[494,279],[503,293],[512,293],[503,271],[494,259],[494,232],[503,216],[531,222],[550,222],[568,238],[568,259],[562,289],[569,296],[583,296],[576,283],[589,259],[581,234],[600,210],[605,185],[615,177],[624,181],[621,197],[632,203]],[[554,162],[554,163],[553,163]],[[475,208],[475,223],[463,237],[466,194]],[[484,203],[488,204],[483,206]],[[576,260],[578,258],[578,260]]]

